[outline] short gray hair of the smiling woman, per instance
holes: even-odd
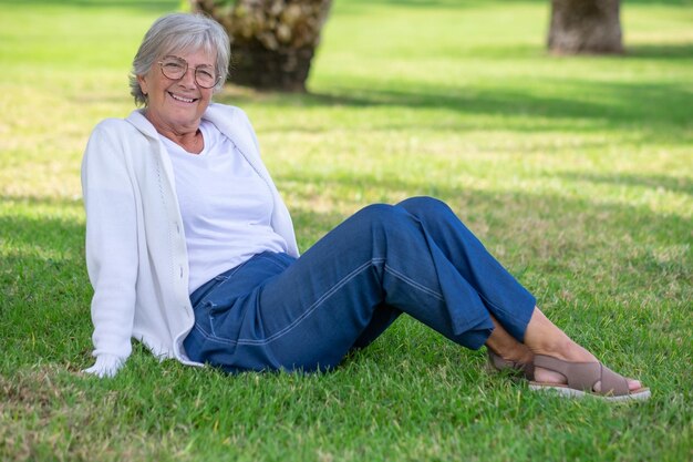
[[[217,21],[207,16],[170,13],[154,21],[133,60],[130,94],[135,96],[135,104],[145,106],[147,104],[147,96],[139,88],[137,75],[149,72],[157,59],[182,50],[203,50],[216,54],[216,72],[220,79],[214,92],[221,90],[231,59],[228,34]]]

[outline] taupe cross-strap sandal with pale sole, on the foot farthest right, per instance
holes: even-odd
[[[649,388],[628,389],[628,380],[603,366],[601,362],[570,362],[545,355],[535,355],[535,367],[562,374],[567,384],[529,382],[532,390],[551,390],[566,397],[598,397],[609,401],[647,400]],[[594,384],[601,382],[601,390]]]

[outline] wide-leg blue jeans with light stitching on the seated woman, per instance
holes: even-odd
[[[402,312],[477,349],[492,314],[523,341],[536,299],[444,203],[371,205],[296,259],[263,253],[190,296],[188,357],[228,372],[337,367]]]

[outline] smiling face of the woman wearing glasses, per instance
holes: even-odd
[[[187,71],[178,80],[164,75],[159,64],[172,57],[187,62]],[[139,88],[147,95],[147,119],[158,132],[184,134],[197,131],[213,93],[213,89],[197,84],[195,69],[199,66],[214,70],[215,57],[201,50],[168,54],[156,60],[147,74],[137,76]]]

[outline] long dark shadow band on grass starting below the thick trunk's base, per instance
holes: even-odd
[[[684,84],[547,79],[545,85],[547,91],[541,91],[541,88],[523,91],[418,83],[412,90],[334,89],[304,95],[231,93],[223,94],[219,101],[237,105],[267,101],[271,105],[297,107],[431,109],[461,115],[507,117],[504,124],[508,130],[521,129],[524,132],[592,132],[597,125],[599,130],[641,127],[654,137],[666,138],[671,138],[671,131],[674,131],[683,135],[681,141],[691,138],[690,106],[693,95]],[[232,88],[230,90],[234,91]],[[532,119],[540,122],[532,124]],[[575,121],[581,123],[576,124]],[[425,123],[422,121],[421,126],[425,127]]]

